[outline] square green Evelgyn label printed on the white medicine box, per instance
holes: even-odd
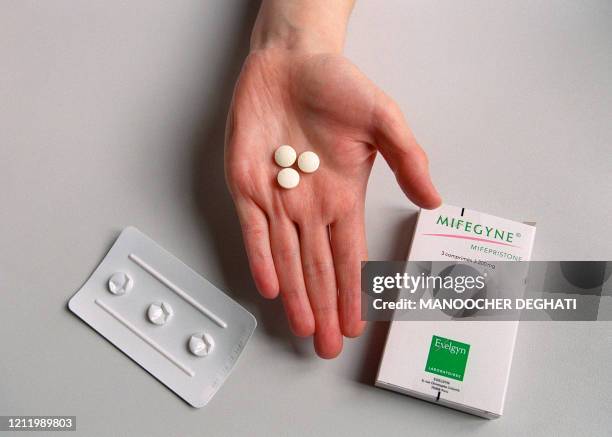
[[[470,345],[450,338],[431,337],[425,371],[463,381]]]

